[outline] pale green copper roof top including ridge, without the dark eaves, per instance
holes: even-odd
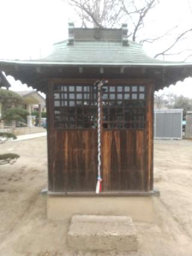
[[[29,65],[56,66],[180,66],[184,62],[160,61],[149,57],[141,44],[128,41],[127,24],[121,29],[74,28],[68,24],[68,40],[53,44],[46,58],[5,61]],[[0,61],[3,65],[4,61]]]

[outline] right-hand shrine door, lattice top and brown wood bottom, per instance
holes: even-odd
[[[145,94],[142,85],[103,87],[104,190],[145,189]]]

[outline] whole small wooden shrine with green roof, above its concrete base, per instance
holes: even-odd
[[[99,93],[102,193],[152,194],[154,91],[192,75],[191,64],[150,58],[127,25],[68,32],[46,58],[0,61],[46,93],[49,194],[95,193]]]

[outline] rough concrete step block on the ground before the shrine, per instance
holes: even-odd
[[[67,234],[78,251],[137,251],[136,228],[128,216],[75,215]]]

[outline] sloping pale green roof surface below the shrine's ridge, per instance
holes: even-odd
[[[74,41],[68,40],[53,45],[53,53],[39,60],[40,62],[68,64],[101,64],[101,65],[167,65],[169,61],[160,61],[146,55],[142,45],[129,41],[123,46],[121,41]],[[175,62],[174,62],[175,63]]]

